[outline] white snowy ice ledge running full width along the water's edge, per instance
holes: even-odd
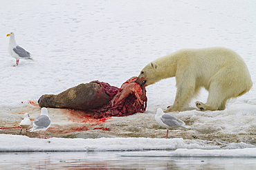
[[[230,145],[221,149],[217,146],[200,145],[196,142],[186,144],[182,138],[49,138],[44,140],[2,134],[0,135],[0,143],[0,151],[136,151],[122,152],[119,156],[256,158],[256,148],[253,145],[236,143],[237,146],[243,145],[247,148],[232,149],[232,145]],[[162,149],[170,149],[170,151],[157,151]]]

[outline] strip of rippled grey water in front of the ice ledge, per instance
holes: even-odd
[[[256,158],[123,157],[122,152],[0,153],[0,169],[256,169]]]

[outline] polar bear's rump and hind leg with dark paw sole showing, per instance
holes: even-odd
[[[210,81],[207,103],[196,102],[196,107],[201,111],[223,110],[226,109],[228,99],[248,92],[252,86],[250,76],[247,76],[244,70],[237,71],[237,67],[230,65],[219,70]]]

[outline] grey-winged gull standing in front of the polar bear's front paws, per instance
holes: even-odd
[[[190,126],[185,125],[182,120],[179,120],[170,114],[165,114],[161,108],[157,109],[155,119],[158,125],[167,129],[167,134],[166,136],[163,136],[163,138],[168,138],[169,129],[174,129],[175,127],[191,128]]]

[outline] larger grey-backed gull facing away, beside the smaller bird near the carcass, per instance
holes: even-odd
[[[46,107],[42,107],[41,115],[35,118],[33,128],[30,131],[38,131],[40,138],[40,131],[44,131],[44,138],[46,139],[46,130],[51,126],[51,118],[48,116]]]

